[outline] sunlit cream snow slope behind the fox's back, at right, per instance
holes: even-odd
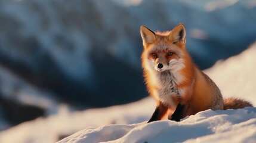
[[[243,97],[255,101],[256,43],[235,57],[217,63],[205,70],[214,79],[224,97]],[[254,102],[254,105],[256,103]]]

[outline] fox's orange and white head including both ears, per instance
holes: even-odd
[[[178,24],[167,32],[153,32],[145,26],[140,27],[144,51],[143,67],[152,71],[178,71],[185,66],[186,30],[184,24]]]

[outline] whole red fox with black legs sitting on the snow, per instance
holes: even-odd
[[[157,101],[149,122],[166,115],[178,122],[203,110],[252,106],[236,98],[223,100],[220,89],[193,63],[187,52],[184,24],[167,32],[153,32],[141,26],[140,33],[144,79],[149,94]]]

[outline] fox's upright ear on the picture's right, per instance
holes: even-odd
[[[169,40],[186,43],[186,29],[183,23],[178,24],[169,34]]]

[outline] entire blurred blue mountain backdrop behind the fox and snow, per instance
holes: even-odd
[[[147,97],[140,26],[184,23],[200,69],[256,40],[255,0],[0,1],[0,130]]]

